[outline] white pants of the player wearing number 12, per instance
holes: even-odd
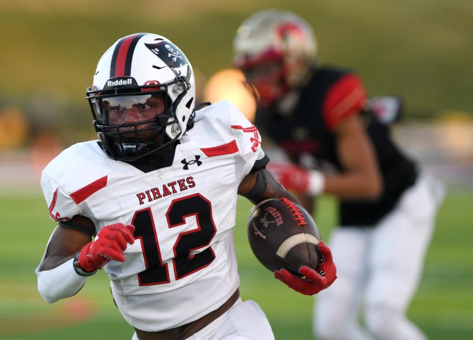
[[[132,340],[138,340],[136,333]],[[274,335],[258,304],[238,299],[225,313],[185,340],[274,340]]]

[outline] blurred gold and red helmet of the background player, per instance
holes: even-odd
[[[317,41],[312,27],[300,16],[266,9],[243,21],[233,50],[235,67],[255,85],[261,101],[271,105],[310,77]]]

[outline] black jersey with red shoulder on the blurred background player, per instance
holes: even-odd
[[[363,114],[366,132],[378,160],[384,190],[375,201],[342,201],[341,226],[372,226],[389,213],[402,192],[416,179],[414,162],[393,143],[389,127],[379,123],[370,112],[363,112],[366,94],[354,74],[337,68],[321,67],[301,90],[291,114],[280,113],[277,106],[258,109],[255,125],[282,147],[291,160],[300,163],[304,155],[315,158],[318,166],[327,163],[344,171],[337,155],[334,127],[345,117]]]

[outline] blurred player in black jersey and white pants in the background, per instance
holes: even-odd
[[[287,11],[255,13],[234,39],[235,66],[259,95],[255,125],[291,160],[268,167],[309,211],[322,193],[340,200],[340,227],[330,239],[339,279],[319,295],[315,335],[426,339],[405,311],[443,185],[393,143],[385,122],[400,102],[367,100],[358,76],[321,66],[316,57],[312,28]],[[365,328],[358,322],[362,304]]]

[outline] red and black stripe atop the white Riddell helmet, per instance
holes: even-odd
[[[110,78],[130,76],[133,52],[138,40],[145,35],[146,33],[137,33],[118,41],[111,57]]]

